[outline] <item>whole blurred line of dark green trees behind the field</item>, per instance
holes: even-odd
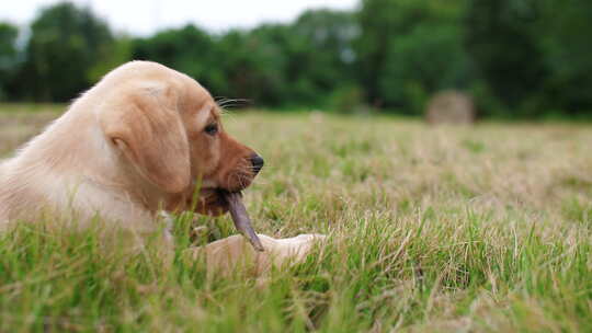
[[[137,37],[62,2],[39,12],[24,43],[0,23],[0,100],[69,101],[117,65],[147,59],[255,106],[414,115],[454,89],[483,116],[589,116],[591,31],[589,0],[362,0],[286,24]]]

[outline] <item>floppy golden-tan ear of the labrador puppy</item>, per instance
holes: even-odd
[[[186,188],[190,149],[177,93],[153,84],[114,94],[99,114],[106,138],[152,184],[168,193]]]

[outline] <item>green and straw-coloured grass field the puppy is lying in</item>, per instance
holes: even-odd
[[[53,116],[0,113],[0,156]],[[123,255],[92,230],[22,226],[0,236],[0,331],[592,330],[591,127],[257,112],[225,122],[265,157],[246,194],[255,229],[328,233],[326,246],[261,283]],[[228,217],[201,222],[209,239],[235,232]]]

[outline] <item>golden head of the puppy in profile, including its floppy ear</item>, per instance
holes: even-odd
[[[99,115],[109,143],[141,179],[164,193],[169,207],[227,210],[220,191],[248,187],[263,159],[224,129],[220,107],[193,79],[153,62],[135,61],[107,74],[112,99]],[[110,84],[112,87],[112,84]]]

